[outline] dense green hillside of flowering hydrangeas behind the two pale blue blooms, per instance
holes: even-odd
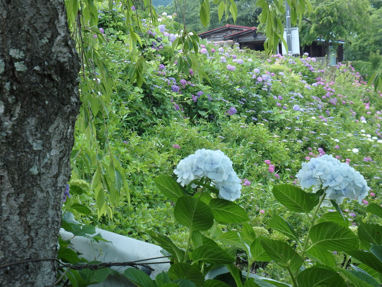
[[[269,250],[293,246],[285,232],[267,223],[278,214],[306,238],[308,217],[292,214],[290,206],[279,200],[280,204],[270,191],[275,183],[297,184],[295,175],[301,164],[324,153],[353,165],[373,189],[362,204],[340,206],[346,220],[354,225],[379,222],[367,215],[366,208],[380,204],[382,95],[367,89],[350,64],[330,69],[310,57],[269,56],[237,46],[219,51],[219,46],[201,40],[190,53],[205,74],[197,77],[194,66],[187,66],[193,60],[172,47],[182,41],[193,46],[194,38],[175,36],[178,24],[167,17],[170,13],[150,23],[129,5],[89,7],[89,20],[95,11],[98,20],[91,22],[91,28],[84,25],[75,30],[78,37],[79,31],[87,32],[78,38],[78,48],[88,60],[81,72],[83,105],[71,157],[72,197],[66,198],[66,219],[73,219],[71,212],[87,225],[145,241],[158,240],[154,231],[167,235],[179,248],[187,248],[189,226],[175,221],[176,200],[160,192],[154,178],[160,174],[172,177],[182,158],[207,148],[222,150],[243,180],[242,196],[236,203],[248,215],[244,225],[247,231],[248,226],[252,228],[251,234],[267,238],[254,245],[268,244]],[[73,11],[68,11],[69,17],[76,14]],[[126,20],[126,15],[131,18]],[[143,15],[149,16],[147,11]],[[186,191],[194,193],[192,188]],[[317,210],[317,215],[327,212]],[[212,235],[220,236],[221,244],[236,246],[222,234],[244,227],[229,223],[216,223]],[[277,241],[280,245],[270,239],[281,240]],[[276,265],[277,259],[271,257],[273,263],[262,257],[254,260],[245,245],[236,244],[239,251],[234,248],[232,257],[244,266],[249,261],[257,274],[290,282],[289,274]],[[333,260],[337,266],[344,262],[342,255]]]

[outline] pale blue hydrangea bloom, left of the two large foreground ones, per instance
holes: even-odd
[[[182,186],[194,179],[207,177],[219,189],[220,198],[234,201],[241,195],[240,179],[232,168],[232,161],[221,150],[197,150],[183,158],[174,173],[178,176],[176,181]]]

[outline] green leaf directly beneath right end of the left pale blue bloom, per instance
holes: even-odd
[[[222,223],[241,223],[249,220],[243,207],[226,199],[214,198],[209,207],[214,213],[214,219]]]

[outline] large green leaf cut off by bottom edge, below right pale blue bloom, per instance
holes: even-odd
[[[345,287],[345,281],[335,271],[319,267],[311,267],[302,271],[297,282],[299,287]]]

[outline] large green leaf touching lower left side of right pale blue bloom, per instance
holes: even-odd
[[[314,201],[302,189],[290,184],[273,186],[272,193],[282,205],[294,212],[308,213],[314,207]]]

